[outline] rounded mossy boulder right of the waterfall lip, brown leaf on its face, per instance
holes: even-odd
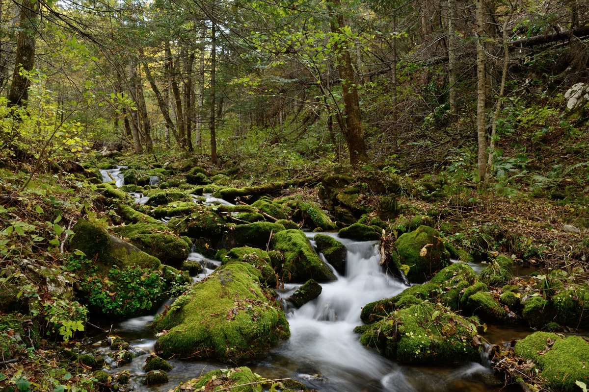
[[[419,226],[411,233],[402,234],[395,247],[402,264],[409,266],[407,278],[421,283],[450,264],[450,254],[439,236],[438,230]]]

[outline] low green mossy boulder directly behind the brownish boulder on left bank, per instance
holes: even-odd
[[[132,244],[160,262],[180,267],[190,250],[186,241],[168,232],[165,227],[150,223],[114,227],[114,232],[127,238]]]

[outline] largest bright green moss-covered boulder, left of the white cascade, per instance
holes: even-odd
[[[237,262],[194,284],[154,321],[156,330],[167,330],[158,337],[155,352],[164,358],[236,363],[286,339],[286,317],[261,282],[255,267]]]

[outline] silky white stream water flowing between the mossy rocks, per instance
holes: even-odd
[[[117,185],[119,178],[115,174],[121,176],[120,182],[123,183],[120,173],[111,172]],[[105,180],[111,181],[108,175]],[[227,203],[225,200],[213,200],[208,195],[205,198],[207,203]],[[315,234],[317,233],[307,233],[313,245]],[[502,378],[494,375],[484,359],[480,363],[448,367],[401,366],[380,356],[375,350],[363,347],[359,343],[359,336],[353,332],[356,326],[362,324],[362,307],[371,301],[395,296],[406,289],[406,286],[381,271],[378,242],[357,242],[341,239],[337,237],[337,233],[323,234],[335,237],[348,249],[346,276],[338,275],[332,268],[337,280],[323,283],[320,296],[299,309],[289,306],[284,299],[300,285],[287,284],[279,292],[279,296],[289,321],[290,339],[280,343],[266,356],[240,365],[248,366],[255,373],[269,379],[292,377],[320,392],[521,391],[517,386],[504,387]],[[219,261],[207,259],[198,253],[190,253],[188,259],[198,260],[206,267],[205,273],[193,278],[195,282],[220,265]],[[130,371],[135,390],[168,391],[180,381],[190,380],[216,368],[231,367],[230,364],[213,361],[172,359],[169,363],[174,368],[168,372],[169,383],[143,386],[140,383],[144,374],[141,367],[145,358],[153,352],[155,343],[154,332],[150,327],[153,318],[154,316],[143,316],[112,326],[102,326],[110,330],[109,336],[122,337],[135,350],[137,356],[130,364],[112,370],[112,373]],[[499,344],[503,340],[524,337],[531,331],[503,331],[495,328],[489,332],[485,337],[491,343]],[[98,343],[106,336],[107,334],[95,336],[92,343]],[[108,360],[110,359],[107,358]]]

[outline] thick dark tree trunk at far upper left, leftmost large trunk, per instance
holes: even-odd
[[[21,14],[19,17],[18,42],[16,43],[12,84],[8,92],[8,106],[27,105],[24,101],[29,98],[29,85],[31,85],[31,82],[29,82],[26,73],[30,72],[35,66],[35,24],[37,23],[38,2],[23,0],[19,8]],[[21,72],[21,69],[24,72]]]

